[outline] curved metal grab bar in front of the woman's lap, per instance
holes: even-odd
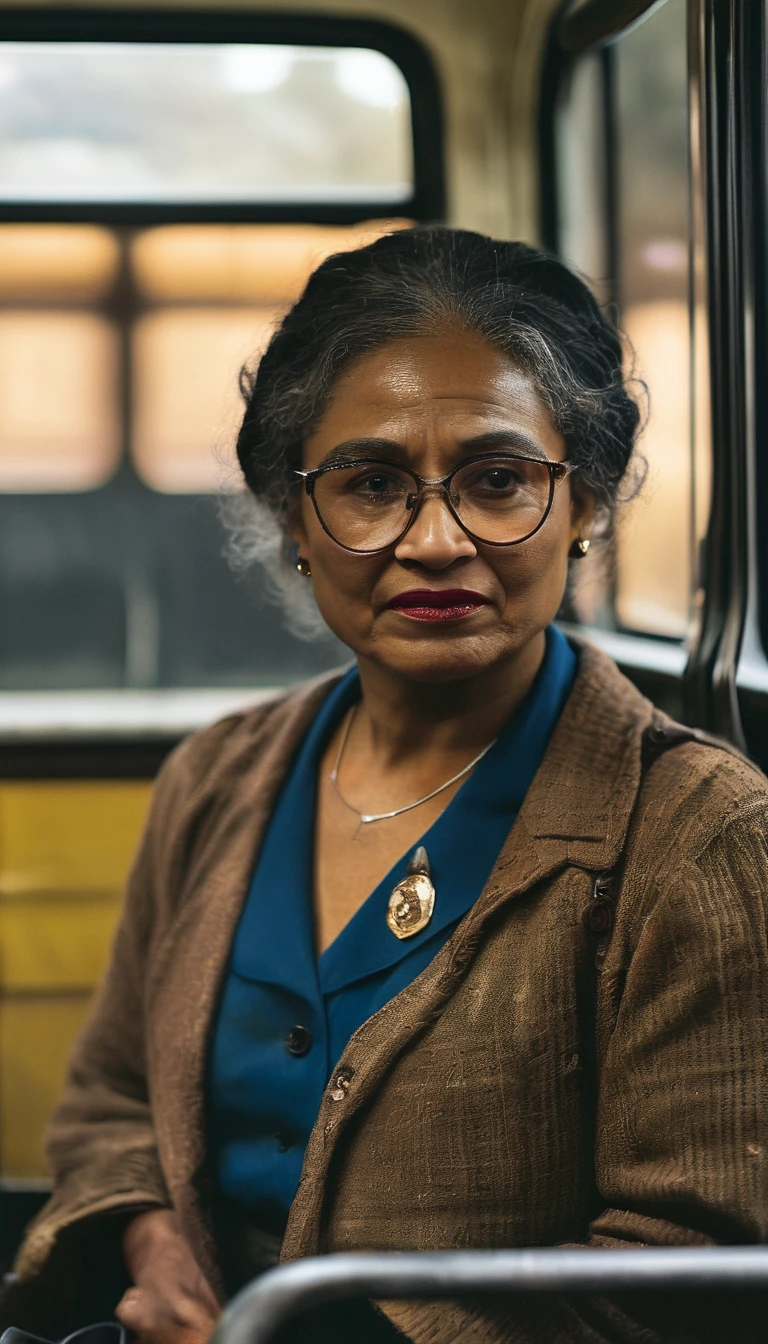
[[[268,1270],[225,1308],[210,1344],[268,1344],[292,1317],[344,1297],[460,1297],[644,1289],[768,1289],[768,1247],[355,1251]]]

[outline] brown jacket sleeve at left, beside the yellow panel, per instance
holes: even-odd
[[[0,1325],[55,1337],[110,1316],[124,1288],[126,1218],[169,1203],[147,1090],[144,985],[148,950],[161,931],[184,751],[165,762],[155,786],[106,974],[47,1132],[54,1193],[27,1231]]]

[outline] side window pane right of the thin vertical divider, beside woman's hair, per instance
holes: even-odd
[[[617,297],[648,387],[648,478],[617,543],[616,614],[683,637],[691,603],[691,379],[686,4],[667,0],[613,48]]]

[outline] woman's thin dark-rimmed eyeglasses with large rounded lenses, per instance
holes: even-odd
[[[428,478],[379,458],[296,472],[323,530],[346,551],[375,555],[405,536],[426,495],[437,493],[459,527],[484,546],[518,546],[546,521],[573,462],[483,453]]]

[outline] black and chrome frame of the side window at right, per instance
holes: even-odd
[[[550,26],[539,94],[541,233],[558,250],[555,102],[574,59],[612,44],[666,0],[561,4]],[[706,314],[713,491],[701,560],[703,603],[679,665],[655,636],[582,628],[656,703],[730,738],[768,765],[768,223],[764,4],[689,0],[691,304]],[[615,155],[605,118],[607,161]],[[616,298],[616,173],[605,192]],[[611,247],[613,253],[611,254]],[[693,309],[691,309],[693,310]],[[763,374],[761,374],[763,371]],[[763,642],[760,644],[760,628]]]

